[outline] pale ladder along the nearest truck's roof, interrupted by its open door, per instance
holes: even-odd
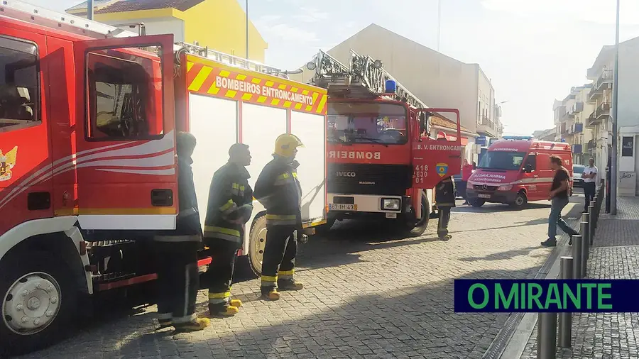
[[[110,26],[97,21],[87,20],[80,16],[71,15],[69,13],[61,13],[45,9],[40,6],[27,4],[17,0],[3,0],[0,2],[0,16],[7,16],[17,20],[34,23],[36,25],[48,28],[57,28],[58,30],[84,35],[89,38],[127,38],[131,36],[139,36],[140,32],[126,31],[115,26]],[[134,26],[132,24],[131,26]],[[140,24],[138,24],[139,26]],[[141,27],[141,26],[140,26]],[[288,72],[275,67],[263,65],[260,62],[246,60],[241,57],[221,53],[219,51],[203,48],[198,45],[187,43],[176,43],[173,50],[178,51],[186,49],[189,53],[194,53],[211,60],[222,62],[231,66],[243,67],[245,69],[272,74],[288,78],[288,74],[297,72]]]

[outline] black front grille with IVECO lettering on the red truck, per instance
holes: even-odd
[[[410,165],[329,163],[327,190],[331,193],[403,196],[413,185]]]

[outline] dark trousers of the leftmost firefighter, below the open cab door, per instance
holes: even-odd
[[[195,299],[200,281],[197,241],[154,243],[158,265],[158,319],[186,323],[195,319]]]

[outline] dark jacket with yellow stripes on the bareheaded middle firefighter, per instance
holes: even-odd
[[[226,163],[215,172],[209,187],[204,238],[219,238],[241,245],[244,224],[253,211],[250,177],[244,166],[233,162]],[[236,223],[238,220],[240,222]]]

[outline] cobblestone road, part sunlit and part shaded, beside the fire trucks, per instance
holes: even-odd
[[[278,302],[258,300],[258,280],[246,280],[233,287],[240,313],[207,330],[154,333],[148,306],[24,358],[481,358],[508,314],[454,314],[452,280],[533,277],[551,252],[539,246],[549,211],[547,201],[460,206],[448,242],[436,220],[425,236],[391,240],[379,224],[339,223],[300,247],[305,289]]]

